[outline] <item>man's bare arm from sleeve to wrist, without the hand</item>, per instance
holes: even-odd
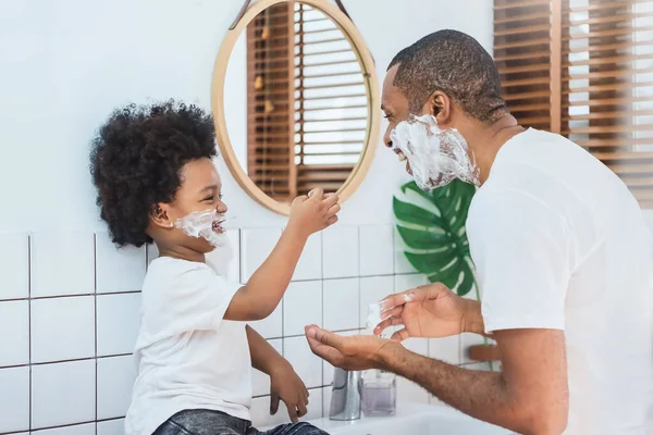
[[[509,330],[493,337],[502,355],[498,373],[467,370],[401,349],[382,353],[381,365],[479,420],[525,435],[563,433],[568,414],[564,333]]]

